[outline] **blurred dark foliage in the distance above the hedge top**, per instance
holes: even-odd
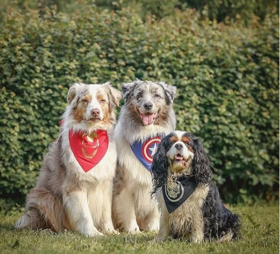
[[[85,0],[2,0],[0,13],[13,6],[19,9],[32,8],[39,9],[39,13],[44,12],[45,7],[56,6],[60,12],[70,13],[80,9]],[[229,18],[230,20],[242,20],[247,24],[251,20],[251,15],[258,16],[261,20],[271,12],[279,13],[278,0],[87,0],[90,4],[109,10],[121,10],[130,7],[145,20],[146,15],[153,15],[156,19],[161,19],[174,14],[174,9],[195,8],[202,17],[218,22]],[[2,16],[0,15],[0,20]]]

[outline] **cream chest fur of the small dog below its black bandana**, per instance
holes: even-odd
[[[192,230],[193,223],[203,218],[203,204],[209,192],[209,187],[201,185],[196,187],[189,198],[172,213],[168,213],[166,204],[161,194],[160,204],[162,211],[169,214],[169,227],[172,234],[187,236]]]

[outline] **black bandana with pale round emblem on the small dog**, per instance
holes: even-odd
[[[176,210],[195,191],[194,177],[183,176],[169,182],[162,188],[165,204],[169,213]]]

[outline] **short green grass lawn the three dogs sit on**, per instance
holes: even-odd
[[[21,213],[0,213],[0,253],[279,253],[278,204],[239,205],[230,209],[242,216],[242,239],[202,244],[173,239],[150,243],[155,233],[138,236],[122,233],[95,239],[75,232],[14,230],[13,224]]]

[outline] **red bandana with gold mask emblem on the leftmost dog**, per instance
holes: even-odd
[[[89,136],[69,130],[68,137],[70,148],[85,172],[98,164],[107,152],[109,139],[105,130],[94,131]]]

